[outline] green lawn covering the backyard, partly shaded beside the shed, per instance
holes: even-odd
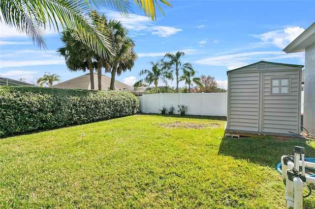
[[[232,139],[224,124],[134,115],[1,139],[0,208],[286,208],[275,166],[315,144]]]

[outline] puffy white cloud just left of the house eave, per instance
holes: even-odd
[[[301,27],[287,27],[280,30],[272,30],[259,35],[252,35],[259,38],[264,44],[273,44],[280,49],[284,49],[296,37],[298,37],[304,28]]]

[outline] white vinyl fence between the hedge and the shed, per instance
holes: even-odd
[[[188,115],[226,116],[227,113],[227,93],[146,94],[139,101],[143,113],[161,113],[163,106],[168,109],[173,105],[174,114],[180,114],[178,104],[189,107]]]

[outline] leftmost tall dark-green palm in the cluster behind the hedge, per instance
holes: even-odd
[[[62,34],[62,41],[65,46],[57,52],[64,56],[65,64],[70,71],[83,70],[85,72],[86,69],[89,69],[91,89],[94,89],[93,60],[95,52],[84,43],[75,39],[69,31],[64,31]]]

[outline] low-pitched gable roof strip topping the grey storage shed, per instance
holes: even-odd
[[[241,68],[237,68],[234,70],[227,71],[226,73],[230,72],[242,72],[242,71],[273,71],[273,70],[301,70],[304,65],[293,65],[293,64],[284,64],[284,63],[277,63],[277,62],[266,62],[266,61],[259,61]]]

